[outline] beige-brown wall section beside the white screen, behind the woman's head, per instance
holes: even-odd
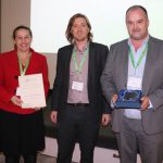
[[[30,0],[1,0],[1,52],[13,48],[12,32],[18,25],[30,26]]]

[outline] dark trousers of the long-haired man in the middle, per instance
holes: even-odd
[[[76,140],[80,148],[80,163],[93,163],[93,150],[99,133],[99,122],[89,106],[67,105],[64,118],[59,122],[58,163],[71,163]]]

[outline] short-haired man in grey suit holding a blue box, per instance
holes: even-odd
[[[147,10],[141,5],[126,11],[129,38],[111,46],[101,84],[115,104],[118,92],[141,90],[140,109],[113,109],[112,129],[116,135],[121,163],[163,161],[163,41],[148,33]]]

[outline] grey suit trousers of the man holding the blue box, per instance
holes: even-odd
[[[116,135],[116,138],[121,163],[136,163],[138,149],[142,163],[163,162],[163,133],[146,134],[141,120],[124,117],[121,133]]]

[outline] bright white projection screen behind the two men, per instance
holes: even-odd
[[[65,30],[75,13],[88,16],[93,41],[110,46],[128,37],[125,25],[126,10],[143,5],[150,20],[150,34],[163,39],[162,0],[32,0],[32,29],[34,48],[42,52],[57,52],[67,45]]]

